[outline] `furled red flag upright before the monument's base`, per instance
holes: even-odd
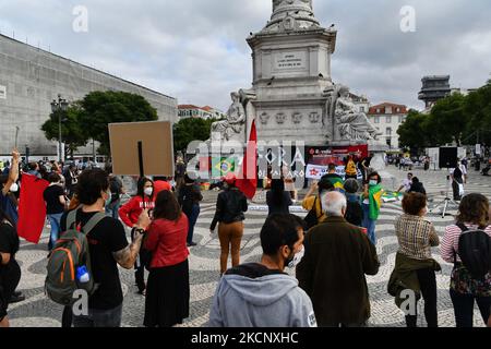
[[[258,132],[255,121],[252,121],[251,134],[242,163],[242,172],[237,180],[237,188],[250,200],[254,197],[258,190]]]

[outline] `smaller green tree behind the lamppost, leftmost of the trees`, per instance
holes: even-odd
[[[67,111],[56,111],[49,116],[49,119],[43,124],[41,131],[45,132],[49,141],[59,141],[59,118],[61,118],[61,141],[67,144],[68,151],[73,153],[81,146],[87,144],[88,137],[80,123],[80,116],[83,113],[82,106],[79,103],[72,104]]]

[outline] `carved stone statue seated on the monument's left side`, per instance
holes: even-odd
[[[227,119],[217,121],[212,124],[212,134],[220,134],[221,141],[239,141],[246,140],[246,109],[240,104],[240,95],[236,92],[231,93],[232,104],[227,111]]]

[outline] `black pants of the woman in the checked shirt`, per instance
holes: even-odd
[[[439,314],[436,311],[436,275],[433,268],[419,269],[418,280],[421,294],[424,300],[424,317],[428,327],[439,327]],[[417,305],[417,304],[415,304]],[[415,310],[417,311],[417,306]],[[417,327],[418,314],[406,316],[407,327]]]

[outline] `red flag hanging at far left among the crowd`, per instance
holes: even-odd
[[[49,183],[35,176],[22,174],[21,185],[17,233],[28,242],[39,243],[46,221],[43,193]]]

